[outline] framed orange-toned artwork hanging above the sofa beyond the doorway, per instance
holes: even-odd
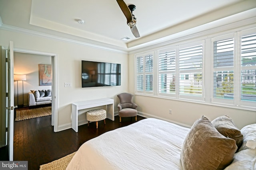
[[[52,65],[39,65],[39,86],[52,86]]]

